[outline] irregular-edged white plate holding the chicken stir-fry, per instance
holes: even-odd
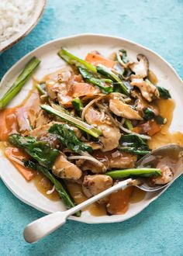
[[[164,59],[155,54],[152,50],[148,50],[147,48],[129,40],[114,36],[84,34],[58,39],[44,44],[42,47],[33,50],[31,53],[23,57],[5,74],[2,78],[0,95],[2,95],[2,92],[7,90],[9,85],[12,85],[12,81],[14,81],[16,76],[19,74],[19,71],[22,70],[22,67],[34,55],[42,61],[35,74],[37,78],[42,78],[44,74],[48,74],[59,69],[60,66],[64,64],[64,61],[57,56],[57,51],[61,46],[67,47],[68,50],[78,55],[78,57],[85,57],[85,55],[91,50],[98,50],[103,55],[108,56],[115,50],[119,50],[121,48],[126,49],[129,58],[134,61],[136,60],[136,54],[145,54],[150,61],[150,69],[157,74],[159,85],[169,89],[172,98],[176,102],[171,130],[183,130],[183,119],[180,119],[180,111],[183,109],[183,86],[178,74],[170,64],[167,64]],[[16,106],[22,102],[22,99],[25,98],[31,86],[32,81],[27,82],[19,95],[13,99],[10,106]],[[25,179],[22,178],[22,175],[19,174],[19,171],[16,171],[16,168],[14,168],[3,156],[0,157],[0,166],[0,175],[3,182],[5,182],[5,185],[7,185],[12,193],[20,200],[36,209],[39,209],[43,213],[53,213],[58,210],[64,210],[62,202],[53,202],[45,198],[37,191],[33,182],[27,183]],[[91,216],[90,213],[86,211],[82,213],[81,217],[77,218],[71,216],[70,219],[85,223],[112,223],[127,220],[132,216],[135,216],[137,213],[140,213],[150,204],[150,202],[157,199],[164,191],[147,193],[146,197],[141,202],[131,204],[127,213],[123,215]]]

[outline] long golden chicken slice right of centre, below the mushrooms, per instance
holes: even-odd
[[[120,99],[116,97],[112,97],[109,100],[109,109],[116,115],[116,116],[123,116],[127,119],[136,119],[142,120],[143,118],[139,115],[139,113],[132,108],[132,106],[122,102]]]

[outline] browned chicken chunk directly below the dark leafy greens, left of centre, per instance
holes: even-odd
[[[67,178],[73,180],[78,180],[82,175],[82,171],[75,164],[67,161],[64,154],[60,154],[57,157],[56,161],[54,162],[52,172],[58,178]]]

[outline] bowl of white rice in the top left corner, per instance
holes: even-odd
[[[46,0],[0,0],[0,53],[26,36],[39,21]]]

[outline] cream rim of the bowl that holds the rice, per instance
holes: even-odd
[[[15,33],[15,35],[11,36],[8,40],[0,43],[0,54],[30,33],[30,31],[36,26],[37,22],[39,22],[46,2],[47,0],[36,0],[36,8],[34,9],[33,15],[29,17],[29,21],[22,26],[19,33]]]

